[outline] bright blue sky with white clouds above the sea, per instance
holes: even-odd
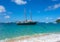
[[[0,0],[0,22],[23,21],[24,7],[28,20],[30,10],[33,21],[54,22],[60,19],[60,0]]]

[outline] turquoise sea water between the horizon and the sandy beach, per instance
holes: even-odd
[[[60,32],[60,24],[40,23],[36,25],[0,24],[0,39],[39,33]]]

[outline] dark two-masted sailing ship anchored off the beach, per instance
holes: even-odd
[[[26,11],[24,10],[24,17],[25,17],[25,21],[24,22],[17,22],[17,25],[35,25],[37,22],[32,21],[32,14],[30,11],[30,20],[27,20],[26,17]]]

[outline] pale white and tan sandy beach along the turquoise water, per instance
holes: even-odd
[[[60,42],[60,34],[42,34],[24,38],[0,40],[0,42]]]

